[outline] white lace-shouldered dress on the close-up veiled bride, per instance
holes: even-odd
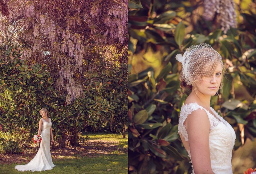
[[[178,133],[188,141],[187,130],[183,123],[188,115],[198,109],[206,111],[211,124],[209,144],[212,171],[215,174],[232,174],[231,157],[236,134],[231,125],[219,116],[212,107],[211,111],[215,116],[197,103],[184,104],[180,110]],[[188,156],[191,160],[190,150],[188,150]],[[190,162],[193,164],[192,161]],[[194,174],[194,169],[192,173]]]

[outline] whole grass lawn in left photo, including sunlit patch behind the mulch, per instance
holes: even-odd
[[[97,148],[101,143],[116,142],[117,148],[111,153],[99,154],[94,157],[84,156],[80,153],[72,154],[69,156],[61,156],[53,158],[53,163],[56,164],[52,170],[42,171],[45,174],[127,174],[128,173],[128,154],[127,144],[128,139],[122,139],[120,134],[110,133],[89,133],[86,134],[90,137],[87,143],[90,144],[92,141],[93,146]],[[86,136],[85,135],[85,136]],[[118,142],[118,143],[117,143]],[[99,147],[100,148],[100,147]],[[1,161],[3,158],[1,158]],[[1,164],[1,162],[0,162]],[[27,164],[26,162],[23,164]],[[21,164],[1,164],[1,174],[30,174],[39,172],[19,172],[14,169],[15,165]],[[109,170],[110,169],[110,170]],[[109,170],[109,171],[107,171]],[[41,173],[42,173],[41,172]]]

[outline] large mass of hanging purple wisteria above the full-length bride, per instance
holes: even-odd
[[[6,25],[22,26],[17,37],[25,45],[24,59],[47,64],[56,78],[56,87],[66,91],[68,103],[81,95],[77,77],[81,78],[85,71],[86,59],[93,62],[95,52],[104,57],[106,46],[127,46],[127,0],[1,0],[1,3],[8,7],[8,13],[5,12],[4,19],[1,16],[0,30],[5,30]],[[93,63],[88,69],[93,69]]]

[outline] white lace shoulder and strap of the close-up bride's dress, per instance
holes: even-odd
[[[204,107],[198,105],[197,103],[184,104],[180,109],[178,133],[180,133],[184,137],[185,141],[188,141],[188,133],[186,130],[186,126],[184,126],[184,122],[187,119],[188,115],[190,115],[192,112],[194,112],[198,109],[203,109],[204,111],[206,111],[207,116],[210,121],[210,125],[211,125],[210,130],[214,129],[220,123],[220,121],[218,119],[216,119],[214,115],[212,115],[208,110],[206,110]],[[220,120],[222,121],[223,118],[222,117],[220,117],[220,118],[221,118]]]

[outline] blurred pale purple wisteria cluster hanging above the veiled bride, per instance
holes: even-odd
[[[204,0],[204,14],[206,20],[212,20],[217,14],[220,26],[224,33],[230,27],[236,27],[236,12],[234,0]]]

